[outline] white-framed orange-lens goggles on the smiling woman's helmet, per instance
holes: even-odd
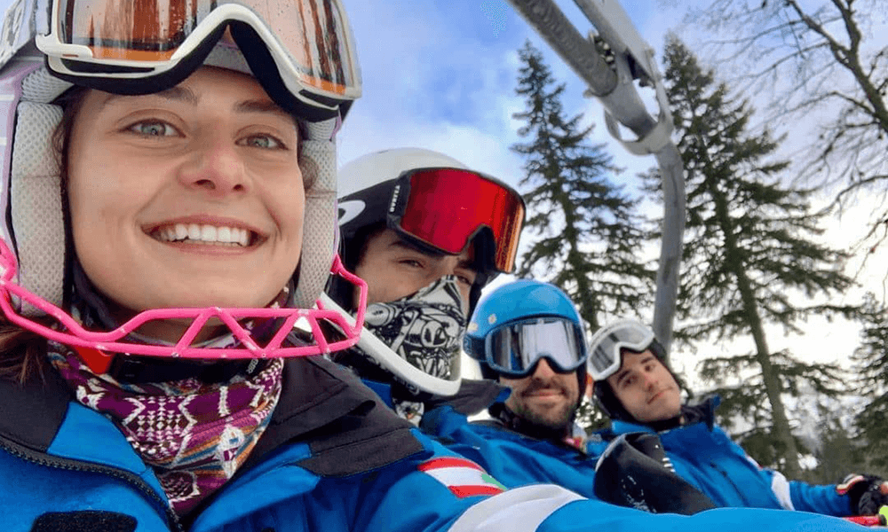
[[[52,0],[50,24],[49,35],[36,37],[47,65],[93,89],[159,90],[148,79],[170,87],[220,38],[233,38],[275,100],[289,99],[289,93],[329,118],[361,94],[340,0]],[[296,106],[278,103],[288,110]]]

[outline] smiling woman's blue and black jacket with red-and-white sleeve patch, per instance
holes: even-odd
[[[0,379],[4,532],[482,530],[480,521],[511,515],[512,505],[524,505],[527,517],[514,530],[533,532],[580,498],[551,488],[489,497],[502,492],[496,481],[398,419],[335,364],[302,358],[285,368],[281,399],[250,458],[184,520],[123,434],[72,401],[55,372],[45,384]],[[467,512],[481,501],[483,512]]]

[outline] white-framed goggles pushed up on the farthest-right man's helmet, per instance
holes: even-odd
[[[637,321],[625,320],[596,332],[589,343],[589,374],[604,380],[620,371],[622,349],[642,353],[654,343],[654,331]]]

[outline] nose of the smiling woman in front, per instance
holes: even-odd
[[[245,192],[248,179],[237,146],[223,135],[207,135],[194,143],[193,153],[180,168],[179,181],[187,188],[222,198]]]

